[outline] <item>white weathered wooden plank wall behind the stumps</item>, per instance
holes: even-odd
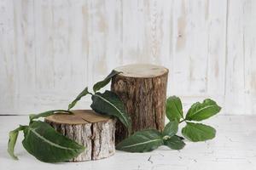
[[[256,1],[0,0],[0,114],[66,109],[131,63],[165,65],[186,104],[256,114]]]

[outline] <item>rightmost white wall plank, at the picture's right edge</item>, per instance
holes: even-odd
[[[230,114],[255,112],[255,37],[253,1],[229,1],[225,109]]]

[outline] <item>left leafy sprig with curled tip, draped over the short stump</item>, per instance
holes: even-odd
[[[45,111],[38,115],[30,115],[29,125],[20,125],[20,127],[9,132],[9,155],[15,160],[18,160],[18,157],[15,156],[15,144],[19,132],[22,131],[24,133],[24,139],[22,140],[23,147],[40,161],[68,161],[75,156],[79,156],[79,154],[85,150],[83,145],[56,132],[48,123],[35,121],[40,117],[46,117],[53,114],[73,113],[65,110],[54,110]]]

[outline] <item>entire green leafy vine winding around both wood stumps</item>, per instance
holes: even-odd
[[[24,133],[22,141],[24,148],[40,161],[67,161],[79,156],[85,150],[83,145],[68,139],[61,133],[56,132],[48,123],[38,121],[37,119],[60,113],[73,114],[70,110],[87,94],[90,94],[92,99],[92,104],[90,105],[92,110],[102,115],[117,117],[127,127],[128,132],[131,133],[131,118],[125,112],[125,105],[119,99],[119,96],[108,90],[104,93],[98,92],[110,82],[112,77],[119,73],[118,71],[112,71],[104,80],[96,82],[93,86],[94,93],[90,93],[88,87],[84,88],[68,105],[67,111],[53,110],[45,111],[38,115],[30,115],[29,125],[20,125],[20,127],[9,132],[9,155],[14,159],[18,159],[15,156],[15,144],[19,132],[22,131]],[[220,110],[221,107],[215,101],[205,99],[202,103],[196,102],[191,105],[186,116],[183,116],[181,100],[176,96],[169,97],[166,100],[166,116],[169,122],[166,124],[163,132],[155,129],[139,131],[120,142],[116,149],[129,152],[146,152],[154,150],[160,145],[166,145],[173,150],[181,150],[185,145],[183,142],[184,138],[193,142],[213,139],[216,130],[213,127],[198,122],[216,115]],[[186,126],[181,130],[184,138],[177,136],[178,125],[183,122],[186,122]]]

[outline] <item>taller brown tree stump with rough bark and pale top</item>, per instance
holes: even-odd
[[[111,90],[119,95],[131,116],[131,132],[148,128],[162,131],[165,127],[168,69],[159,65],[125,65],[114,70],[122,73],[112,78]],[[125,127],[117,122],[116,144],[127,135]]]

